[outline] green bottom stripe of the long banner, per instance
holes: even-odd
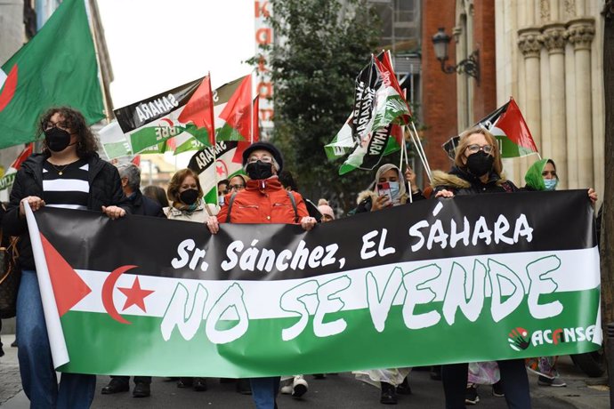
[[[592,338],[599,308],[599,288],[552,293],[539,298],[541,304],[551,301],[560,301],[563,305],[563,312],[557,317],[531,317],[525,297],[521,307],[494,323],[488,298],[475,322],[457,311],[456,323],[452,326],[441,317],[437,325],[414,330],[404,324],[403,307],[394,306],[382,333],[376,331],[368,309],[342,311],[327,314],[323,319],[325,323],[332,323],[343,318],[347,327],[342,333],[316,336],[311,316],[303,333],[292,341],[282,341],[280,334],[282,329],[295,325],[298,317],[254,319],[249,321],[245,335],[226,344],[208,340],[205,320],[190,341],[185,341],[177,328],[170,339],[164,341],[159,317],[126,315],[124,317],[132,324],[124,325],[107,314],[69,311],[61,317],[61,324],[70,362],[60,370],[237,378],[557,356],[598,349],[599,345],[579,339],[585,334]],[[578,305],[594,314],[579,317],[575,309]],[[441,313],[441,308],[441,302],[432,302],[419,306],[414,314],[433,310]],[[234,325],[236,322],[221,321],[216,328]],[[510,333],[517,329],[528,332],[526,349],[514,350],[508,341]],[[484,341],[486,334],[488,342]],[[151,348],[142,348],[143,345]],[[395,352],[391,354],[391,350]]]

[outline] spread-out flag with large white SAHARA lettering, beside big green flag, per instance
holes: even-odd
[[[171,138],[195,140],[199,146],[214,141],[211,83],[205,76],[115,110],[117,123],[137,154],[163,152]],[[184,114],[185,112],[185,114]],[[176,143],[176,142],[175,142]]]

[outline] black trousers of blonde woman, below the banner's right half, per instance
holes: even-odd
[[[497,361],[505,401],[510,409],[530,409],[529,378],[524,359]],[[446,409],[465,409],[465,391],[469,364],[441,365],[441,381]]]

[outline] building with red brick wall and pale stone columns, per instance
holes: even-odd
[[[560,188],[603,194],[603,0],[429,0],[423,12],[424,136],[433,169],[440,145],[510,96],[542,157],[557,164]],[[441,72],[431,37],[453,34],[449,64],[480,52],[480,81]],[[456,57],[456,60],[455,60]],[[506,159],[516,184],[536,155]]]

